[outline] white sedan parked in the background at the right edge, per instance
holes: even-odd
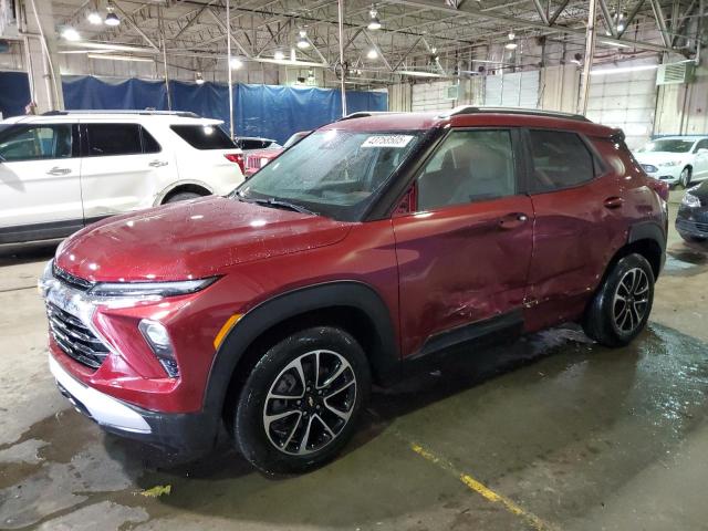
[[[635,153],[649,177],[688,188],[708,178],[708,136],[666,136]]]

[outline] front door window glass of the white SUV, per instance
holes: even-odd
[[[18,125],[0,132],[0,157],[7,162],[69,158],[71,124]]]

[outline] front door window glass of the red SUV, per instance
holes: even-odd
[[[507,129],[451,133],[418,177],[418,209],[514,195],[516,165]]]

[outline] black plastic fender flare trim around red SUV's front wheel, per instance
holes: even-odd
[[[375,379],[395,379],[400,356],[394,322],[386,303],[368,284],[333,281],[275,295],[249,310],[217,350],[205,387],[205,410],[220,414],[233,372],[249,346],[267,330],[288,319],[315,310],[345,306],[364,312],[376,334],[374,352],[367,352]]]

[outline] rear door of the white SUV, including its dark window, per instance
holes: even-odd
[[[152,207],[165,180],[177,180],[173,154],[137,121],[85,121],[82,134],[87,221]]]

